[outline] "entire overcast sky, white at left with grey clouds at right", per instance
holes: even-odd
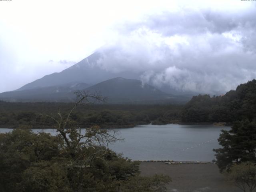
[[[155,86],[228,91],[256,78],[256,1],[0,1],[0,92],[94,51]]]

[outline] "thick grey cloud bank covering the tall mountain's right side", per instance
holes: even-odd
[[[256,78],[256,7],[243,11],[182,10],[116,26],[99,51],[110,71],[136,71],[157,87],[224,93]]]

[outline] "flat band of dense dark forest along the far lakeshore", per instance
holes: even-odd
[[[73,103],[0,101],[0,127],[49,128],[54,125],[54,121],[40,114],[58,114],[58,111],[66,112],[72,106]],[[102,128],[126,128],[151,122],[153,124],[178,122],[181,109],[181,105],[80,105],[71,118],[80,127],[97,124]]]

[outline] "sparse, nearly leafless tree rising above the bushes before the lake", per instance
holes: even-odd
[[[98,92],[91,94],[88,91],[79,90],[75,92],[75,94],[77,98],[76,102],[67,115],[63,116],[59,110],[56,116],[49,114],[40,114],[40,116],[51,118],[56,122],[58,136],[64,140],[66,149],[69,151],[72,158],[75,158],[77,150],[96,146],[97,150],[93,154],[85,157],[80,163],[76,161],[76,163],[72,162],[70,164],[73,166],[86,167],[91,166],[92,161],[96,158],[103,160],[102,156],[104,156],[104,154],[111,153],[109,144],[122,139],[118,136],[119,133],[116,132],[116,130],[101,129],[99,126],[94,125],[90,128],[85,128],[85,132],[82,133],[80,126],[70,126],[72,122],[71,115],[78,105],[88,105],[95,102],[104,102],[106,100],[106,98],[102,97]]]

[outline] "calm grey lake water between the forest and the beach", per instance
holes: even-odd
[[[220,130],[230,127],[212,125],[141,125],[134,128],[115,129],[124,141],[110,148],[133,160],[211,161],[213,148],[220,148]],[[11,129],[0,128],[0,133]],[[56,134],[54,129],[34,129],[33,132]]]

